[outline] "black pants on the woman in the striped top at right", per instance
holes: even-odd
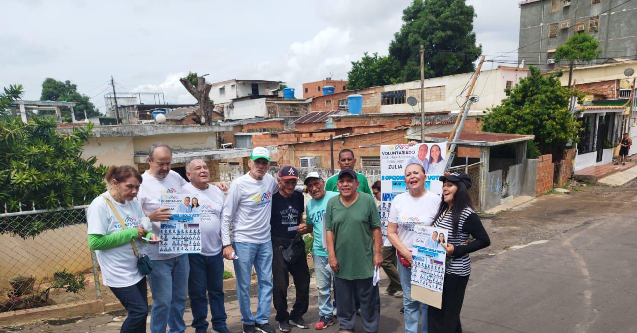
[[[442,309],[429,306],[429,333],[461,333],[460,311],[469,276],[445,274]]]

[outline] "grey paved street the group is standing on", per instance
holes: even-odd
[[[636,195],[636,181],[626,187],[575,187],[569,195],[545,195],[483,216],[492,246],[473,256],[464,332],[637,332]],[[308,322],[318,318],[311,290]],[[238,304],[228,298],[229,326],[240,332]],[[380,332],[403,332],[401,299],[383,296],[381,302]],[[186,318],[192,318],[189,311]],[[118,332],[122,319],[90,316],[0,332]],[[275,324],[273,316],[270,322]],[[338,325],[323,332],[336,330]]]

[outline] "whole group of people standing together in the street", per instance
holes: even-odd
[[[333,325],[338,315],[339,332],[353,332],[359,313],[364,330],[378,332],[380,292],[373,277],[382,266],[390,278],[383,294],[403,297],[405,332],[461,332],[459,315],[471,269],[469,253],[489,246],[489,237],[471,208],[471,179],[466,174],[441,177],[441,197],[425,189],[427,171],[422,160],[408,164],[404,181],[409,190],[392,201],[383,242],[376,206],[380,184],[370,189],[366,177],[354,171],[351,150],[338,155],[340,173],[327,180],[317,172],[308,173],[304,186],[299,185],[294,167],[282,167],[277,178],[268,174],[269,151],[262,147],[254,148],[250,171],[236,178],[229,189],[223,183],[210,183],[203,160],[187,162],[189,182],[171,170],[171,160],[169,146],[157,143],[150,148],[145,173],[131,166],[111,167],[106,174],[108,191],[96,197],[87,211],[89,247],[96,250],[103,284],[129,313],[121,332],[146,331],[147,277],[153,299],[151,332],[166,332],[166,327],[169,332],[185,330],[186,295],[196,332],[208,329],[208,306],[213,332],[229,332],[224,258],[233,260],[244,333],[276,332],[269,323],[271,304],[278,330],[308,329],[303,315],[308,311],[310,273],[302,237],[310,233],[319,308],[315,329]],[[311,197],[306,203],[303,190]],[[161,222],[171,216],[161,206],[162,193],[190,194],[183,206],[190,205],[190,211],[194,205],[199,208],[200,253],[160,254],[157,250],[162,241]],[[410,216],[418,216],[417,223],[448,230],[447,243],[443,238],[438,243],[448,257],[442,309],[427,309],[411,298],[415,222]],[[250,308],[253,269],[258,289],[256,313]],[[290,275],[296,298],[288,311]]]

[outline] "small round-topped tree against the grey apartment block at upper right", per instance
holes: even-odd
[[[598,50],[599,41],[594,36],[586,32],[578,32],[568,38],[564,45],[555,49],[553,59],[559,62],[562,59],[568,60],[568,87],[571,87],[573,78],[573,66],[578,61],[590,61],[599,57],[601,49]]]

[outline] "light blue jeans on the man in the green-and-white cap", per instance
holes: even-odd
[[[239,259],[234,259],[234,274],[237,281],[237,298],[241,310],[241,322],[247,325],[267,323],[272,304],[272,242],[263,244],[233,243],[234,253]],[[250,310],[250,279],[252,266],[257,272],[257,315]]]

